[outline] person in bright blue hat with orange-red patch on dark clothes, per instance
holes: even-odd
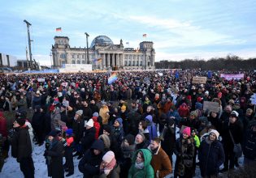
[[[73,161],[73,142],[74,138],[72,136],[73,130],[67,129],[66,130],[66,142],[67,146],[65,147],[65,159],[66,163],[64,163],[65,172],[68,172],[66,176],[72,176],[74,174],[74,161]]]

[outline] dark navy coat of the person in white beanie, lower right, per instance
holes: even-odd
[[[201,176],[217,176],[219,167],[225,161],[224,150],[221,142],[209,141],[209,137],[201,142],[198,150]]]

